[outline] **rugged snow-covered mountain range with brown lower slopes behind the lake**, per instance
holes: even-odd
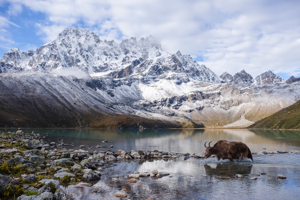
[[[221,127],[252,124],[300,99],[271,71],[218,77],[153,37],[120,44],[67,28],[0,60],[0,127]]]

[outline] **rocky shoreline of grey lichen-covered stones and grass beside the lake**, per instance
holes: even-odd
[[[176,159],[183,155],[156,150],[89,152],[83,145],[78,150],[67,150],[63,147],[68,144],[48,144],[42,138],[40,134],[23,133],[22,130],[0,132],[0,196],[4,199],[64,200],[67,198],[60,188],[62,184],[100,180],[101,171],[113,165],[110,162],[145,162],[149,159]],[[52,149],[48,149],[50,147]],[[128,175],[128,181],[167,175],[170,174],[156,170],[134,172]],[[126,196],[123,191],[116,193],[116,197]]]

